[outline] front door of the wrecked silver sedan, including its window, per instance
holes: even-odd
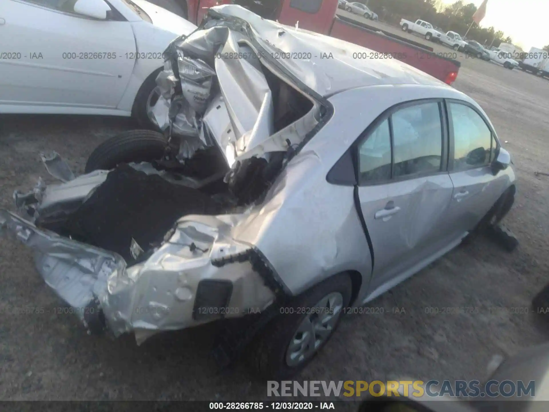
[[[450,131],[449,170],[454,191],[447,230],[463,236],[474,229],[505,190],[506,180],[492,174],[497,141],[488,121],[472,105],[447,101]]]

